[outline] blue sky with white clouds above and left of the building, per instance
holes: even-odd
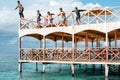
[[[90,9],[93,7],[120,6],[119,0],[20,0],[25,11],[25,18],[36,16],[36,10],[43,15],[47,11],[57,13],[62,7],[66,12],[71,12],[75,6],[78,8]],[[17,0],[0,0],[0,53],[17,52],[18,39],[18,10],[14,10]],[[28,39],[23,39],[23,46]],[[38,47],[38,41],[29,39],[29,46]],[[35,42],[34,45],[30,45]]]

